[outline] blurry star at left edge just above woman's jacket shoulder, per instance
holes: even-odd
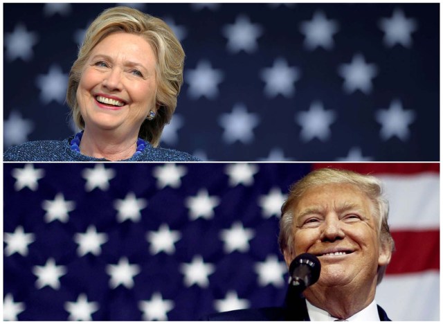
[[[21,117],[19,111],[11,111],[8,120],[3,122],[3,141],[5,146],[17,145],[28,141],[28,135],[33,132],[34,123]]]

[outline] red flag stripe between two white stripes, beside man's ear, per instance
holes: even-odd
[[[392,237],[396,251],[387,274],[440,269],[440,231],[395,231]]]

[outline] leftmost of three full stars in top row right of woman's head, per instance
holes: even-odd
[[[248,17],[240,15],[234,24],[223,26],[222,33],[228,38],[227,48],[230,53],[245,51],[251,54],[257,51],[257,38],[262,35],[262,30],[262,26],[251,24]]]

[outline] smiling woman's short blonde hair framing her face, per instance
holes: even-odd
[[[93,48],[112,33],[130,33],[144,37],[156,56],[156,117],[144,120],[138,136],[155,147],[159,145],[165,124],[169,123],[177,106],[183,84],[185,52],[172,29],[159,18],[128,7],[115,7],[103,11],[89,26],[78,58],[69,72],[66,102],[71,107],[75,125],[84,129],[84,119],[77,102],[77,89],[89,55]]]

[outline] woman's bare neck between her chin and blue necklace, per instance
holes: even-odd
[[[120,161],[129,159],[137,148],[137,134],[134,136],[116,136],[113,132],[93,132],[84,129],[80,152],[98,159]]]

